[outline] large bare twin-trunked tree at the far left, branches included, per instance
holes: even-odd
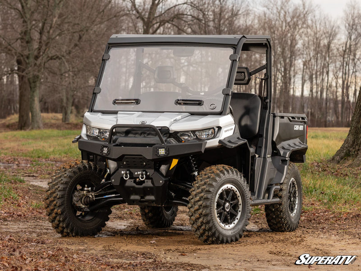
[[[56,57],[50,49],[63,33],[57,25],[65,23],[66,16],[62,14],[64,4],[64,0],[3,0],[4,10],[14,20],[6,25],[7,31],[0,35],[0,42],[3,50],[16,58],[20,129],[27,128],[28,109],[31,112],[31,128],[43,127],[39,84],[45,65]]]

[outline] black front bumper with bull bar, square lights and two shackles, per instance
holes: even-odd
[[[166,144],[155,126],[136,125],[155,130],[160,143],[153,146],[139,143],[121,146],[111,140],[112,132],[117,127],[128,126],[114,125],[110,129],[108,142],[77,138],[82,159],[94,160],[99,168],[108,166],[112,185],[127,204],[162,206],[169,203],[168,181],[175,170],[172,161],[203,153],[207,142]]]

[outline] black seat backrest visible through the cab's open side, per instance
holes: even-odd
[[[231,103],[235,124],[242,138],[251,138],[258,134],[260,126],[262,100],[253,93],[232,93]]]

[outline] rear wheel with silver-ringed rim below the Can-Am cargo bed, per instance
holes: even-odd
[[[281,202],[265,205],[267,223],[272,231],[292,232],[298,227],[302,208],[301,185],[300,172],[295,164],[290,163],[281,189],[277,193]],[[292,190],[295,191],[292,193]]]

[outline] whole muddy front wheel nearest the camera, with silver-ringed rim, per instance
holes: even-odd
[[[237,241],[251,217],[251,193],[245,178],[227,165],[205,168],[193,183],[188,215],[192,230],[201,241]]]

